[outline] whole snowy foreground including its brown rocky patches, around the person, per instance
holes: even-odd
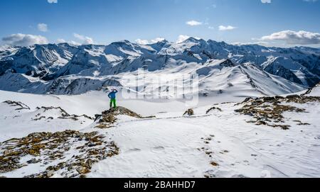
[[[0,91],[0,176],[319,177],[319,88],[287,98],[203,96],[190,115],[171,100],[119,98],[132,111],[105,111],[104,91]]]

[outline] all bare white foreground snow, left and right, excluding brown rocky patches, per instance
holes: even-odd
[[[249,115],[235,113],[241,105],[220,103],[221,98],[201,98],[202,104],[193,108],[195,115],[191,117],[182,115],[186,106],[178,101],[126,101],[120,98],[121,106],[144,112],[143,115],[156,115],[156,118],[136,119],[119,115],[114,127],[101,130],[95,128],[97,124],[93,120],[86,120],[83,124],[58,120],[55,117],[60,115],[59,111],[44,112],[36,107],[60,106],[69,114],[92,116],[107,109],[108,101],[102,91],[80,96],[39,96],[1,91],[0,102],[7,100],[21,101],[30,110],[19,113],[1,103],[0,142],[31,132],[63,129],[98,131],[113,140],[119,147],[119,154],[93,165],[88,177],[320,176],[319,103],[291,103],[305,108],[307,113],[284,113],[285,122],[291,128],[281,130],[247,123],[252,120]],[[206,114],[213,106],[222,111]],[[50,115],[54,120],[33,123],[31,118],[37,113]],[[15,119],[17,114],[19,117]],[[310,125],[297,125],[294,120]],[[43,169],[33,164],[0,176],[22,177]]]

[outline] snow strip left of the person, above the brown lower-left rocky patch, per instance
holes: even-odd
[[[32,132],[80,130],[92,123],[92,119],[85,116],[65,116],[65,111],[60,108],[19,108],[15,104],[0,103],[0,141],[24,137]]]

